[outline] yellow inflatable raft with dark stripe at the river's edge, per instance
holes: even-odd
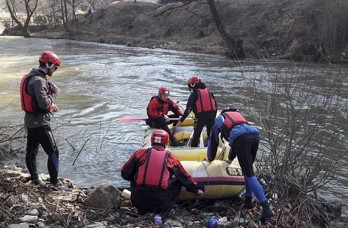
[[[185,120],[186,121],[186,120]],[[193,124],[191,121],[190,124]],[[187,141],[192,135],[193,126],[184,122],[185,126],[172,127],[173,135],[178,141]],[[150,137],[155,128],[147,127],[145,129],[142,147],[151,146]],[[206,156],[206,130],[201,135],[201,147],[179,146],[167,149],[175,154],[181,161],[182,166],[199,184],[204,185],[205,194],[203,198],[216,199],[228,198],[237,195],[244,189],[244,176],[237,159],[231,164],[224,162],[227,158],[229,145],[220,139],[219,147],[212,162],[202,161]],[[181,188],[180,199],[195,198],[196,195],[187,192],[184,187]]]

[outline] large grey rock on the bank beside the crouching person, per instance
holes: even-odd
[[[117,208],[121,205],[120,192],[112,185],[101,184],[85,198],[84,203],[96,208]]]

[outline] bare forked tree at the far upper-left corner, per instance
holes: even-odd
[[[14,22],[20,27],[22,30],[22,33],[25,37],[30,36],[30,32],[28,30],[30,19],[32,14],[34,13],[36,7],[37,7],[37,2],[38,0],[23,0],[24,6],[25,6],[25,11],[26,11],[26,18],[24,23],[22,23],[16,14],[16,9],[15,9],[15,1],[14,0],[5,0],[7,10],[11,15],[11,18],[14,20]]]

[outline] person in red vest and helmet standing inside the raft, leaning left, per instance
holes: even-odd
[[[191,76],[188,79],[187,86],[189,90],[192,90],[188,97],[186,109],[183,112],[181,119],[176,124],[180,126],[193,110],[195,115],[193,126],[193,137],[191,141],[191,147],[197,147],[200,137],[200,133],[204,125],[206,126],[206,132],[209,137],[211,126],[214,124],[216,116],[216,101],[214,95],[209,91],[206,85],[201,81],[198,76]]]

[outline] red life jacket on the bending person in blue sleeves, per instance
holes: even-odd
[[[223,125],[221,130],[221,136],[228,139],[229,131],[231,129],[239,124],[249,124],[246,119],[240,114],[238,111],[224,111],[221,112],[221,115],[223,116]]]

